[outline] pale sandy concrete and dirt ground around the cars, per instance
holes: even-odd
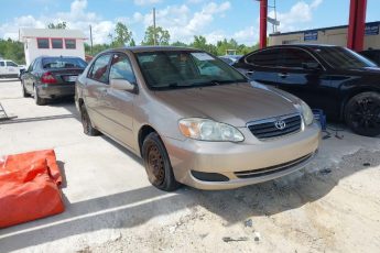
[[[85,136],[73,101],[37,107],[19,81],[0,80],[0,102],[19,117],[0,122],[0,155],[54,147],[66,179],[66,211],[0,230],[1,253],[380,252],[380,138],[329,130],[301,172],[167,194],[150,186],[138,157]]]

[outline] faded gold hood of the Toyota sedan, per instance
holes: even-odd
[[[254,84],[156,91],[155,96],[183,118],[208,118],[235,127],[297,112],[295,97]]]

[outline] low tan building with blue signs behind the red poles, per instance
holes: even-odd
[[[366,23],[365,50],[380,50],[380,34],[378,22]],[[348,25],[305,30],[290,33],[270,34],[270,45],[284,44],[330,44],[347,46]]]

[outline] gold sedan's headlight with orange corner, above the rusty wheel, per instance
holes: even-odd
[[[186,138],[213,142],[242,142],[240,131],[232,125],[208,119],[191,118],[180,120],[180,130]]]

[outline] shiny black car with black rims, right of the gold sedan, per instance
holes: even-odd
[[[354,132],[380,134],[380,68],[340,46],[282,45],[245,55],[236,68],[289,91]]]

